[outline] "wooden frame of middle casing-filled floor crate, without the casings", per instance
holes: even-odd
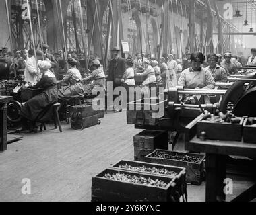
[[[119,167],[119,165],[130,165],[131,167],[146,167],[146,168],[158,168],[158,169],[166,169],[168,171],[173,171],[174,173],[177,173],[177,175],[164,175],[159,173],[152,173],[152,172],[145,172],[145,171],[139,171],[139,170],[129,170],[122,167]],[[152,175],[160,175],[162,177],[170,177],[175,179],[175,183],[177,184],[178,192],[180,198],[183,197],[183,200],[187,200],[187,183],[186,183],[186,169],[183,167],[174,167],[169,165],[159,165],[159,164],[152,164],[152,163],[146,163],[141,161],[125,161],[121,160],[117,163],[115,163],[113,166],[115,169],[123,169],[126,171],[135,171],[140,173],[148,173]],[[185,197],[185,198],[184,198]]]

